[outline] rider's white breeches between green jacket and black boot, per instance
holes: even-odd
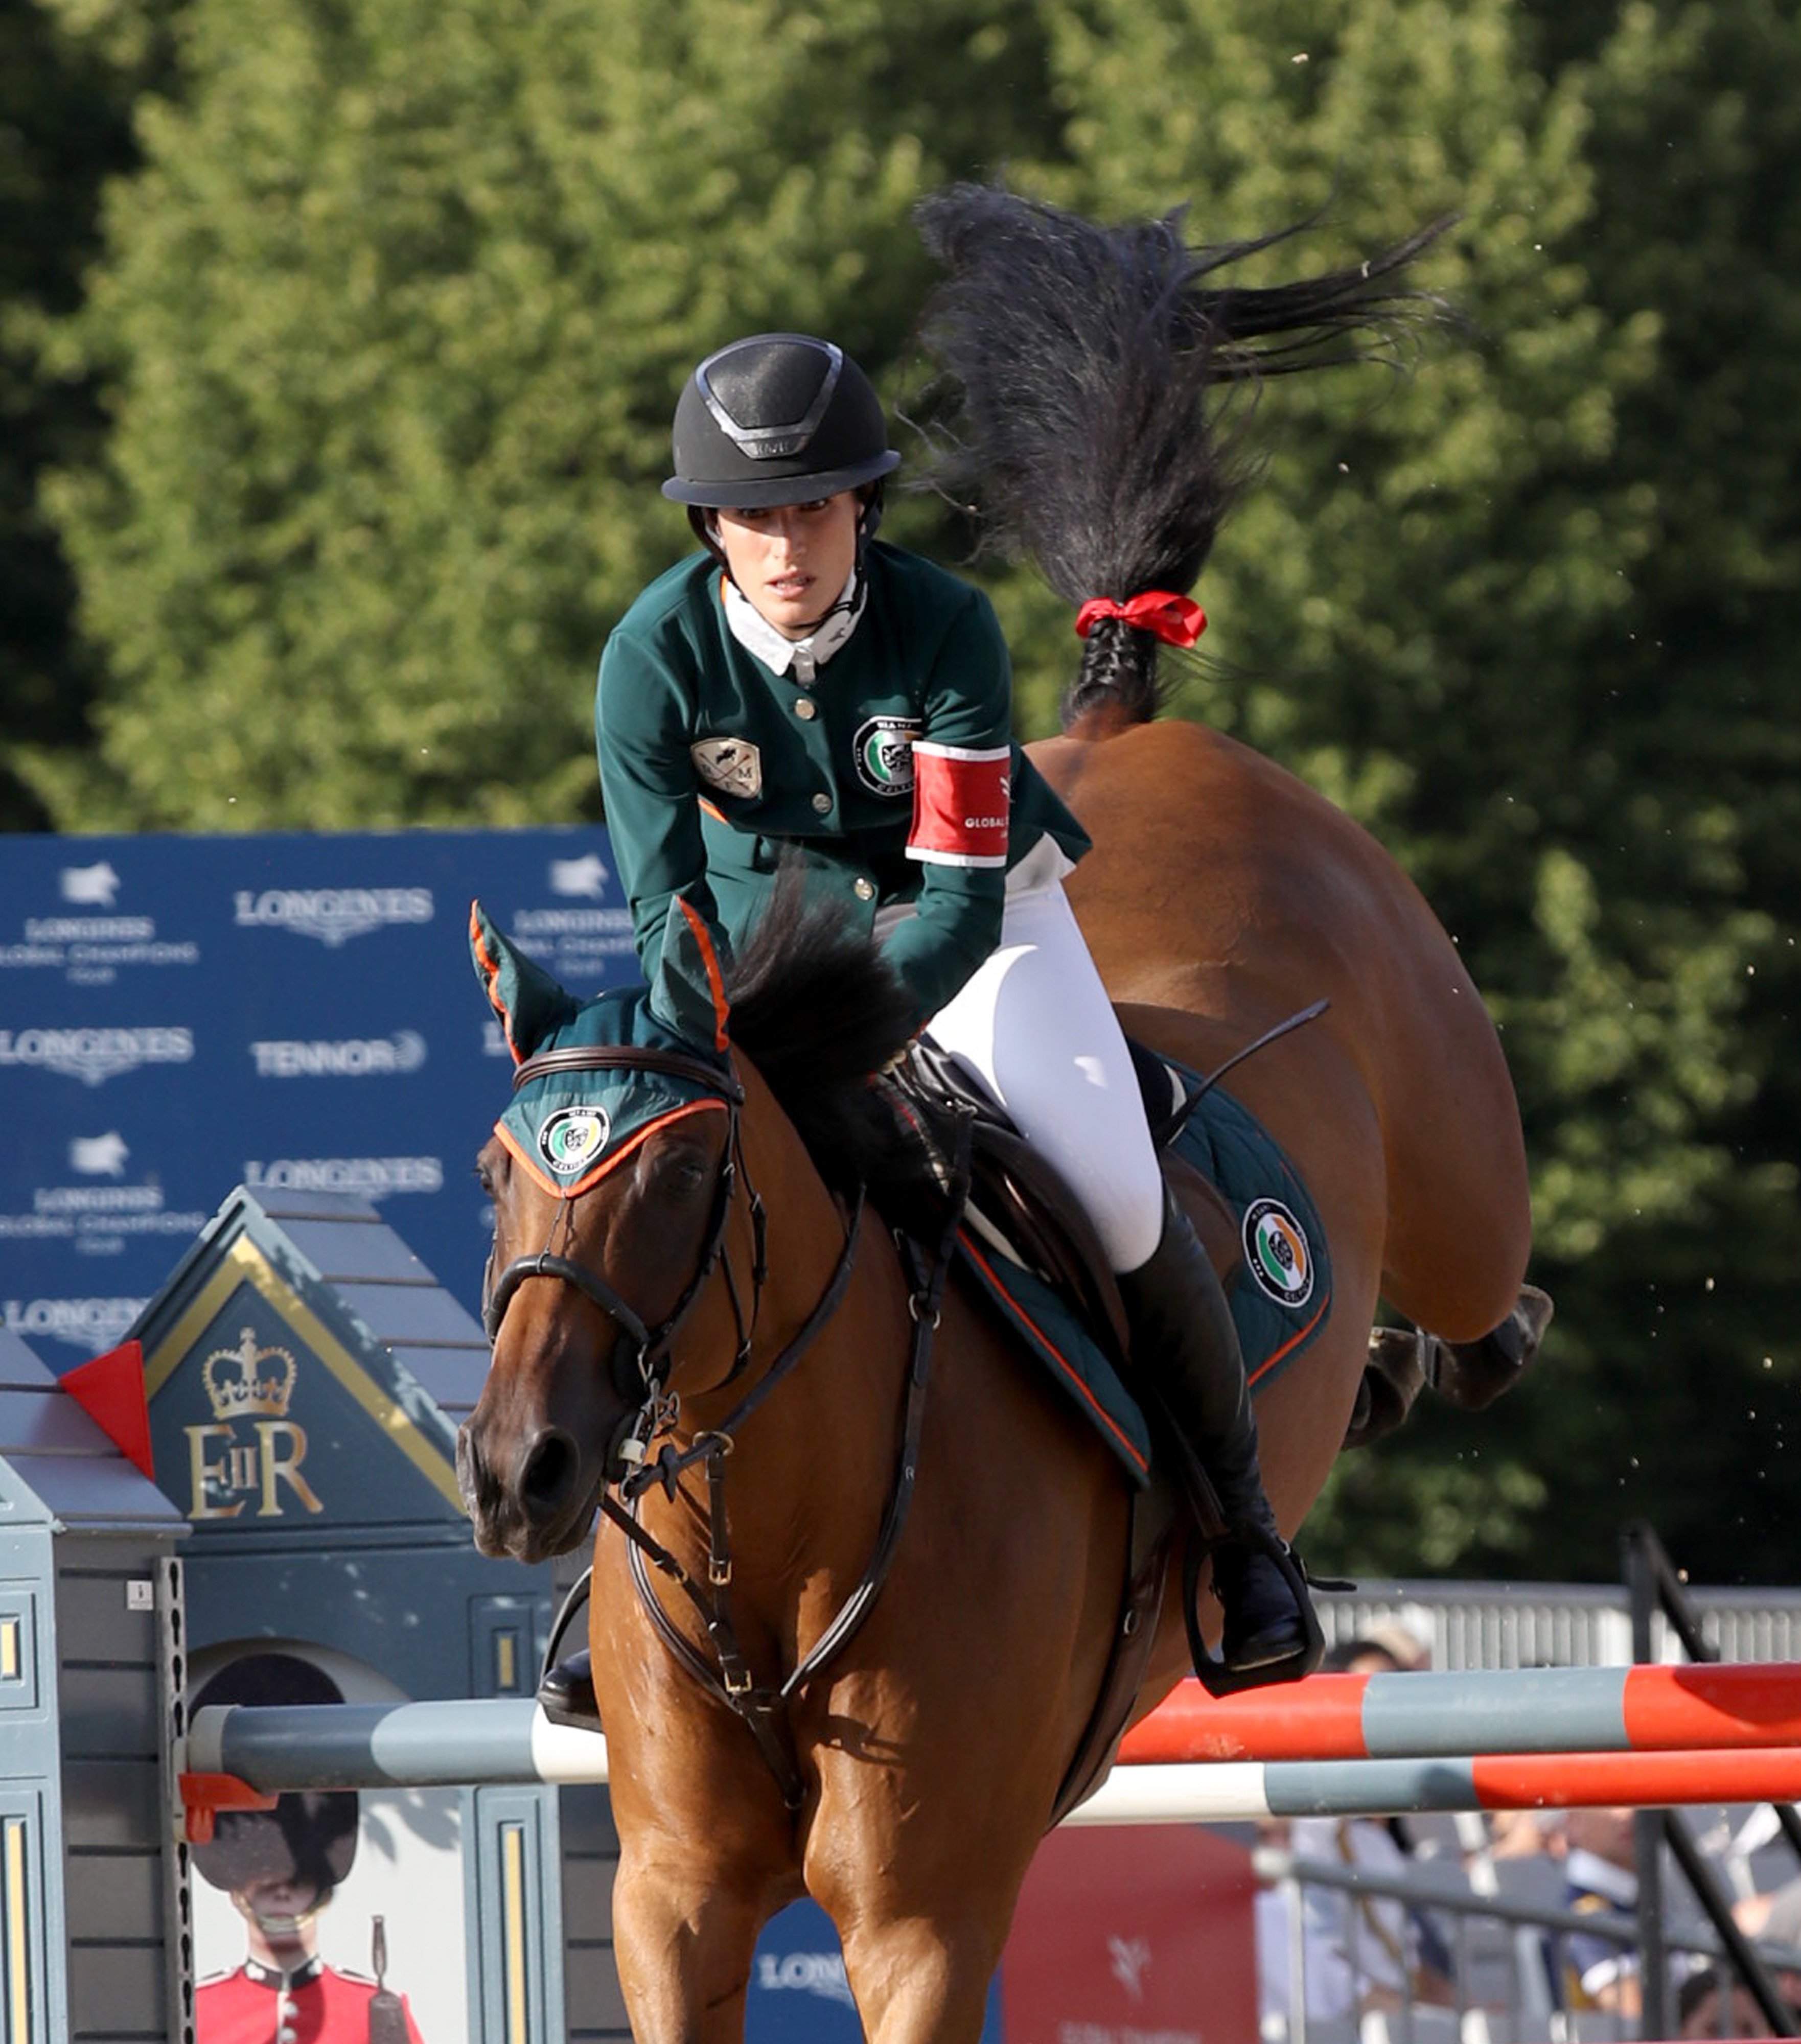
[[[1055,838],[1008,875],[1000,944],[930,1020],[1069,1181],[1116,1271],[1163,1233],[1163,1175],[1112,1002],[1063,893]]]

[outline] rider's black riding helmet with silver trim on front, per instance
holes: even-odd
[[[899,456],[881,399],[832,341],[752,333],[689,376],[662,495],[709,511],[812,503],[877,482]]]

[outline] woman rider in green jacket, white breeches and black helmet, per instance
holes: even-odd
[[[916,1026],[1061,1169],[1118,1273],[1133,1353],[1229,1529],[1235,1674],[1292,1674],[1308,1633],[1259,1541],[1274,1519],[1231,1312],[1163,1190],[1130,1057],[1063,895],[1088,838],[1012,736],[987,599],[875,540],[899,456],[867,376],[799,333],[722,347],[675,411],[664,497],[703,552],[607,640],[601,793],[664,1020],[681,899],[730,955],[783,852],[881,938]],[[1249,1537],[1247,1537],[1249,1535]]]

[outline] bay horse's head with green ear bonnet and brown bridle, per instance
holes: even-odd
[[[538,1562],[576,1545],[648,1435],[722,1251],[742,1091],[724,1010],[703,1053],[642,991],[576,1002],[480,905],[470,944],[517,1069],[476,1165],[493,1365],[456,1466],[476,1545]]]

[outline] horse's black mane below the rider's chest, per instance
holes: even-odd
[[[877,1175],[893,1116],[869,1081],[918,1018],[881,944],[787,861],[726,979],[732,1040],[763,1073],[828,1183]]]

